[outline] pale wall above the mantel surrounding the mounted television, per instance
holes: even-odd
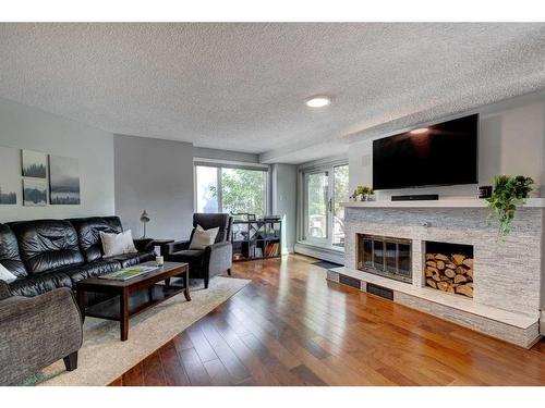
[[[523,174],[534,178],[536,188],[545,184],[545,103],[532,102],[481,114],[479,135],[479,185],[492,185],[497,174]],[[352,144],[349,149],[350,188],[373,185],[372,140]],[[459,162],[458,162],[459,163]],[[452,159],[451,165],[457,165]],[[377,199],[392,194],[437,193],[441,197],[474,197],[477,185],[407,188],[379,191]],[[545,193],[545,189],[542,188]],[[540,194],[538,190],[534,193]]]

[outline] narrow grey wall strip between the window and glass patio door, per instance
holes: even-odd
[[[296,233],[298,166],[271,165],[271,213],[282,218],[282,252],[293,252]]]

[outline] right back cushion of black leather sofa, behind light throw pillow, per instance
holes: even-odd
[[[119,234],[123,231],[119,217],[92,217],[69,221],[77,232],[80,248],[87,262],[102,258],[100,232]]]

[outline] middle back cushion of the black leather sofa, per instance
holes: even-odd
[[[37,220],[10,224],[29,274],[84,262],[74,226],[63,220]]]

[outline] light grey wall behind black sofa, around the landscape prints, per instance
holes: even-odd
[[[0,206],[0,222],[114,213],[111,133],[2,98],[0,124],[0,146],[78,159],[82,194],[80,206],[23,207],[21,170],[17,170],[19,203]],[[20,158],[17,163],[20,166]],[[0,163],[0,172],[12,171],[4,165]]]

